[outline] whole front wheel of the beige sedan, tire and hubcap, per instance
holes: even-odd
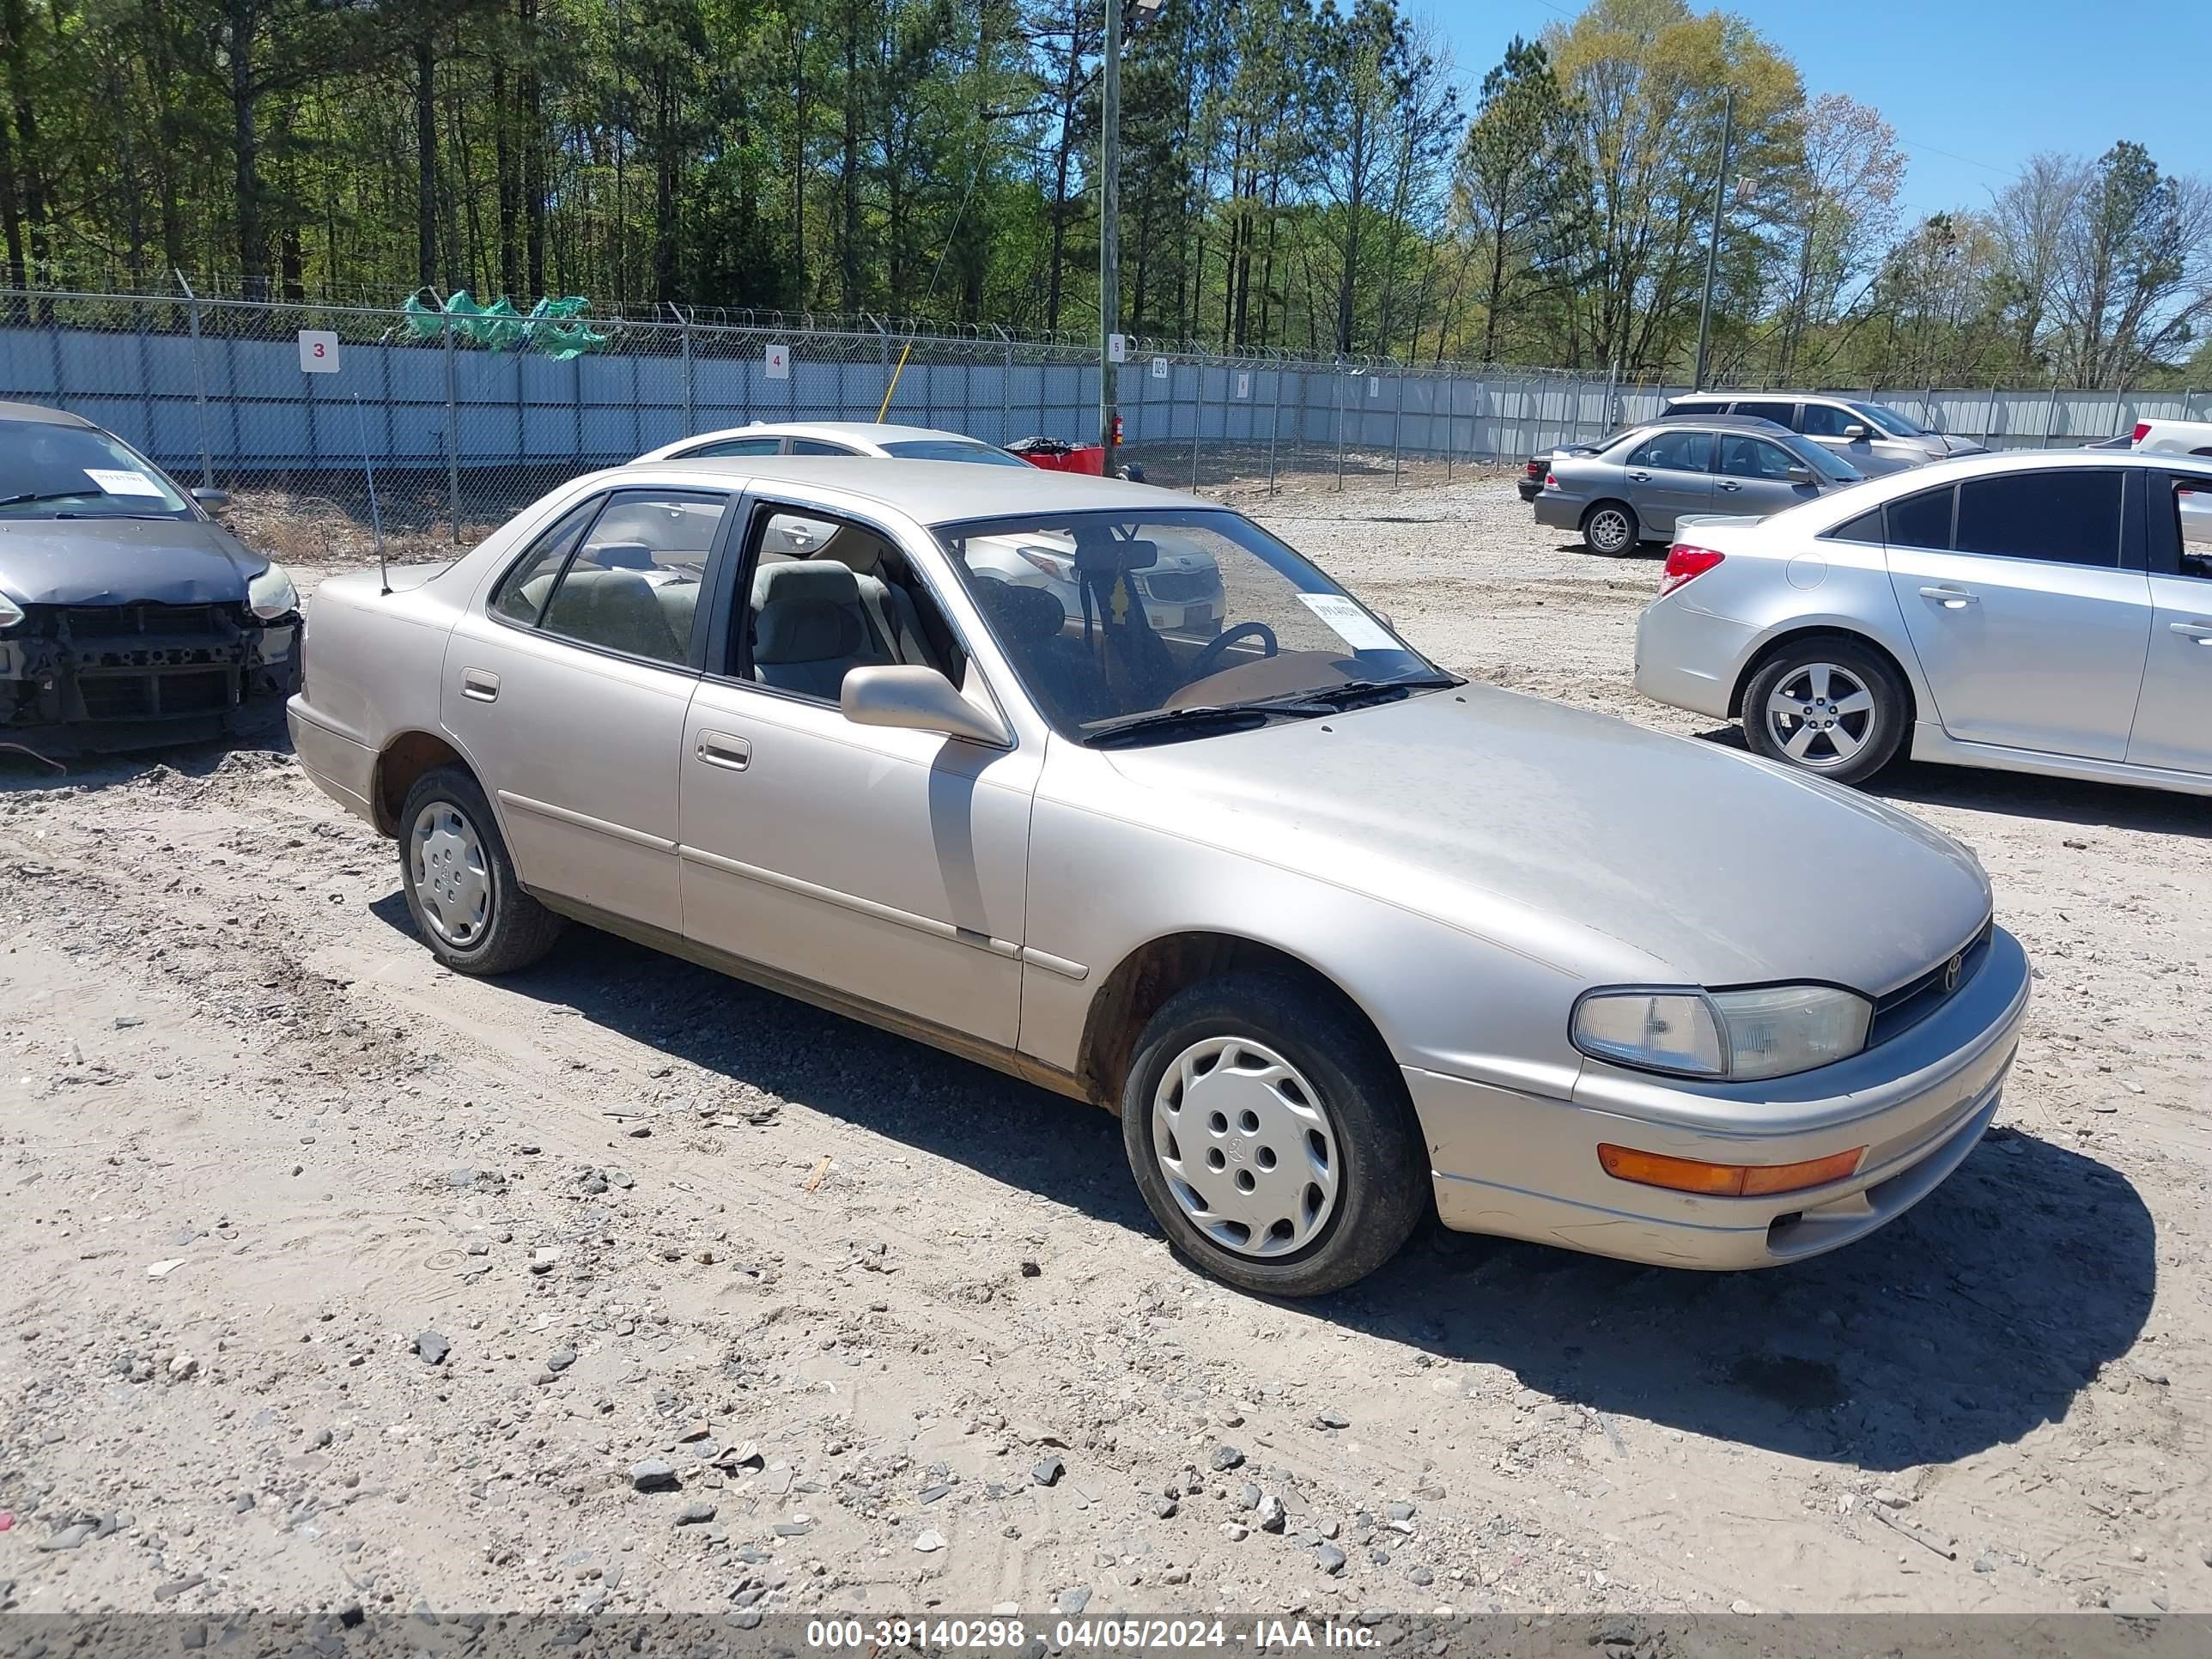
[[[1427,1210],[1389,1053],[1338,998],[1276,973],[1194,984],[1152,1015],[1121,1141],[1168,1243],[1265,1296],[1365,1279]]]

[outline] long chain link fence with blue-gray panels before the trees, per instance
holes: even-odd
[[[568,349],[549,352],[515,327],[407,307],[9,294],[0,398],[71,409],[179,480],[228,489],[232,526],[299,562],[356,557],[378,524],[396,557],[438,555],[582,471],[754,420],[1097,438],[1091,343],[675,307],[577,321],[584,345],[562,334]],[[1126,460],[1150,482],[1232,498],[1447,482],[1597,438],[1688,387],[1133,341],[1117,389]],[[1882,400],[2000,447],[2212,414],[2212,394],[2194,392],[1931,387]]]

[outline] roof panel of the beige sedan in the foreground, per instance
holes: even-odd
[[[854,467],[852,458],[838,456],[633,460],[597,473],[593,482],[624,484],[633,478],[653,482],[712,478],[728,484],[761,484],[770,493],[774,484],[823,487],[883,502],[922,524],[1015,513],[1091,513],[1117,507],[1150,513],[1232,511],[1175,489],[1130,484],[1119,478],[1053,473],[1042,467],[947,467],[940,460],[874,460],[867,467]]]

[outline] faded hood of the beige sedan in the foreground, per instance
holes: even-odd
[[[1265,858],[1593,982],[1867,995],[1989,916],[1918,818],[1736,750],[1464,686],[1108,750],[1115,816]]]

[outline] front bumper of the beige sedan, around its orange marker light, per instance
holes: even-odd
[[[1933,1192],[1982,1139],[2020,1046],[2028,960],[1997,929],[1938,1011],[1876,1048],[1765,1084],[1670,1084],[1586,1066],[1575,1099],[1405,1068],[1447,1228],[1661,1267],[1774,1267],[1863,1239]],[[1805,1192],[1710,1199],[1617,1181],[1599,1144],[1712,1164],[1798,1164],[1856,1146]]]

